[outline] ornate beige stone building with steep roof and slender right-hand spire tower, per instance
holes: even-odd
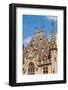
[[[57,73],[57,41],[52,19],[51,39],[45,36],[42,28],[38,28],[36,34],[27,47],[23,47],[24,75]]]

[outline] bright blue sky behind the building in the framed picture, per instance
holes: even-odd
[[[36,32],[37,28],[43,28],[45,35],[49,38],[52,29],[52,17],[51,16],[38,16],[38,15],[23,15],[23,38],[24,45],[27,46],[31,38]],[[54,28],[57,33],[57,17],[54,16]]]

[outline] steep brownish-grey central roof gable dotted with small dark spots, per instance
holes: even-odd
[[[48,45],[48,39],[44,34],[44,31],[42,28],[39,28],[32,40],[29,43],[29,49],[35,50],[38,53],[39,60],[42,60],[43,58],[43,52],[47,52],[47,55],[49,54],[49,45]]]

